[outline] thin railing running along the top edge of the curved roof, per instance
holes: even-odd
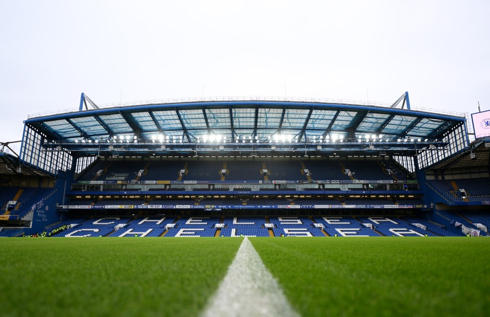
[[[187,103],[187,102],[219,102],[219,101],[280,101],[280,102],[310,102],[310,103],[334,103],[334,104],[352,104],[352,105],[366,105],[373,107],[389,108],[390,103],[386,102],[376,102],[376,101],[363,101],[363,100],[353,100],[353,99],[332,99],[332,98],[311,98],[311,97],[281,97],[281,96],[213,96],[213,97],[188,97],[188,98],[169,98],[169,99],[148,99],[139,101],[129,101],[129,102],[115,102],[115,103],[105,103],[100,104],[100,109],[110,109],[110,108],[123,108],[132,107],[138,105],[152,105],[152,104],[169,104],[169,103]],[[440,109],[430,109],[430,108],[420,108],[412,107],[411,111],[426,112],[433,114],[450,115],[454,117],[465,118],[464,113],[452,112]],[[28,119],[75,113],[79,112],[79,108],[68,108],[61,110],[53,110],[47,112],[39,112],[28,115]]]

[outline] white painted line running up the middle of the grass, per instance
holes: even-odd
[[[299,316],[245,237],[203,317]]]

